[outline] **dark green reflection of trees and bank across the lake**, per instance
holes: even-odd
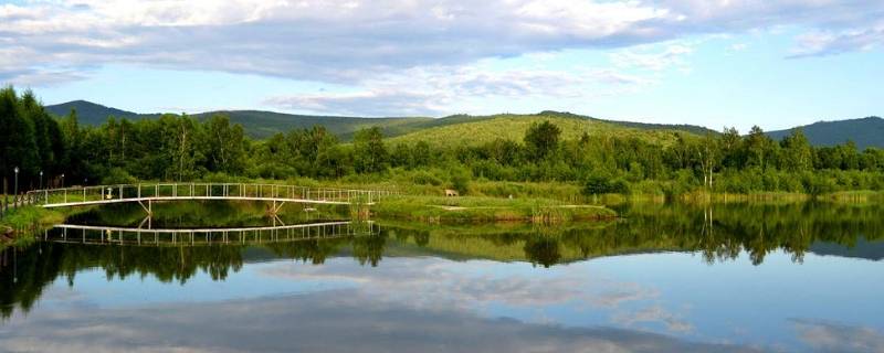
[[[59,277],[70,285],[78,271],[102,268],[109,279],[154,276],[185,284],[198,271],[224,280],[243,264],[287,258],[322,265],[333,256],[351,256],[379,266],[388,256],[432,255],[453,259],[530,261],[543,267],[600,256],[646,252],[698,252],[705,261],[727,261],[746,252],[751,263],[782,250],[803,260],[814,244],[838,244],[845,254],[859,242],[880,240],[884,220],[877,205],[789,204],[633,205],[624,220],[610,223],[536,227],[530,225],[428,225],[381,223],[373,236],[308,239],[257,246],[107,246],[40,242],[0,254],[0,314],[15,307],[28,311]],[[260,250],[255,250],[260,249]],[[838,250],[828,249],[838,255]],[[834,253],[833,253],[834,252]],[[884,254],[864,252],[881,259]]]

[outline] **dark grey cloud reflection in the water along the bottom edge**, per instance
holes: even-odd
[[[632,330],[415,310],[352,291],[217,303],[35,312],[0,331],[28,352],[758,352]]]

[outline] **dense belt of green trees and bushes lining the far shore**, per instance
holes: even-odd
[[[850,141],[813,147],[800,129],[781,141],[758,127],[745,136],[734,128],[673,133],[671,142],[589,133],[565,140],[559,127],[544,121],[522,141],[478,146],[391,145],[379,128],[345,142],[322,126],[253,140],[223,115],[202,121],[187,115],[110,117],[97,127],[82,126],[76,111],[51,117],[31,92],[0,90],[0,170],[11,178],[19,167],[22,189],[38,188],[41,171],[53,186],[231,178],[359,182],[397,174],[462,192],[473,180],[578,183],[587,194],[884,189],[878,148],[860,151]]]

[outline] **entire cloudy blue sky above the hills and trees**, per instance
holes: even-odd
[[[0,0],[0,84],[137,113],[884,115],[881,0]]]

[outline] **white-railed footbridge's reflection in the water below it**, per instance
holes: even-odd
[[[231,228],[140,228],[62,224],[43,233],[53,243],[135,246],[267,244],[377,235],[371,221],[322,222]]]

